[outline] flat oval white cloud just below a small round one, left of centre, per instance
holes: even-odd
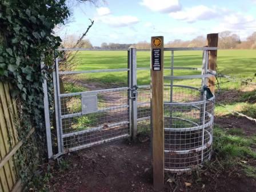
[[[130,15],[114,16],[114,15],[104,15],[102,17],[95,18],[95,21],[100,21],[111,27],[125,27],[134,25],[139,22],[139,19]]]

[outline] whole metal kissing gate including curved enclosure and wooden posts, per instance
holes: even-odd
[[[49,158],[115,139],[135,139],[137,133],[147,130],[152,133],[155,189],[163,187],[164,171],[187,171],[201,165],[210,158],[213,143],[218,34],[207,35],[207,40],[207,47],[164,48],[163,37],[153,37],[151,86],[137,85],[137,71],[149,68],[137,68],[135,48],[127,51],[126,69],[59,71],[62,61],[56,58],[53,82],[58,153],[52,152],[50,128],[46,125]],[[201,50],[202,68],[175,66],[174,52],[183,50]],[[166,51],[170,51],[170,66],[164,66]],[[174,75],[176,70],[193,70],[192,73],[199,71],[200,74]],[[127,86],[95,87],[95,90],[77,93],[62,91],[63,76],[117,71],[127,71]],[[184,85],[189,82],[187,79],[200,81],[201,86]]]

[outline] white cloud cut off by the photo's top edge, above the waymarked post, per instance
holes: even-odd
[[[141,5],[152,11],[170,13],[181,10],[179,0],[142,0]]]

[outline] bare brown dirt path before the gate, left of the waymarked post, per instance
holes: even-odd
[[[69,168],[54,173],[51,191],[153,191],[149,146],[122,140],[66,155]]]

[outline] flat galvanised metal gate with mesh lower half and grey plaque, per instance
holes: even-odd
[[[86,51],[85,49],[59,50]],[[58,154],[55,156],[115,139],[136,137],[138,123],[141,130],[141,125],[145,126],[147,121],[146,125],[149,129],[150,86],[137,86],[136,49],[129,49],[127,57],[126,69],[87,71],[59,71],[59,58],[55,59],[53,82],[58,143]],[[62,75],[116,71],[127,71],[126,87],[61,93],[59,80]],[[141,97],[138,97],[138,93],[141,92]]]

